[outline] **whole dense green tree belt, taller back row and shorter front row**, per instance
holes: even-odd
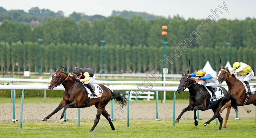
[[[162,25],[167,25],[165,41],[166,53],[173,54],[177,43],[183,43],[196,31],[204,19],[181,17],[145,20],[140,16],[130,19],[111,16],[95,19],[93,22],[73,18],[48,18],[33,30],[27,23],[4,20],[0,26],[1,70],[37,71],[38,38],[43,39],[41,46],[41,71],[59,69],[60,65],[69,69],[91,67],[101,68],[101,41],[105,40],[105,73],[146,72],[153,67],[162,71],[158,61],[162,59]],[[201,40],[188,47],[177,57],[173,64],[167,63],[171,73],[186,72],[188,58],[192,58],[191,71],[196,71],[210,61],[213,69],[219,70],[219,58],[226,61],[226,42],[230,42],[229,61],[245,62],[254,69],[256,64],[253,49],[256,46],[256,19],[220,19],[215,27],[202,31]],[[9,53],[9,54],[8,54]],[[17,64],[16,64],[17,63]]]

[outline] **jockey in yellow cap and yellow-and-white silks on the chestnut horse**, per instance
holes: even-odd
[[[248,83],[249,80],[252,79],[254,76],[254,72],[252,71],[251,67],[243,62],[235,62],[233,64],[233,68],[229,70],[230,74],[238,72],[240,75],[242,75],[239,80],[244,81],[246,87],[248,88],[248,94],[251,94],[250,85]]]

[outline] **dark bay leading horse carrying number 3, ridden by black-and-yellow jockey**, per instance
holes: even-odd
[[[65,88],[65,91],[63,93],[63,100],[60,102],[59,106],[47,117],[42,119],[43,121],[46,121],[52,115],[57,113],[59,110],[61,110],[64,107],[64,110],[60,116],[59,123],[63,123],[63,116],[67,108],[84,108],[84,104],[86,101],[86,98],[88,97],[88,93],[86,89],[84,88],[84,85],[82,82],[76,82],[74,77],[69,77],[69,74],[62,72],[63,70],[60,69],[55,72],[55,74],[52,75],[52,80],[48,85],[48,89],[52,90],[54,87],[57,87],[58,85],[62,84]],[[126,98],[124,98],[120,93],[113,93],[110,89],[105,87],[104,85],[98,84],[101,89],[103,90],[102,96],[98,98],[93,98],[90,100],[90,102],[85,107],[90,107],[94,105],[98,110],[96,114],[96,119],[94,120],[94,125],[91,128],[91,131],[94,130],[94,128],[97,126],[101,114],[108,120],[111,129],[115,130],[115,127],[110,119],[110,116],[108,112],[105,110],[106,105],[108,104],[109,100],[114,99],[117,103],[120,104],[121,107],[124,105],[126,106],[127,101]],[[89,97],[90,98],[90,97]]]

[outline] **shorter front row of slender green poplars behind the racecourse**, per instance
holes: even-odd
[[[101,69],[101,46],[96,44],[43,44],[41,45],[41,71],[48,72],[49,69],[60,69],[67,67],[72,71],[73,67],[89,67],[96,72]],[[176,46],[166,46],[165,55],[173,54]],[[0,42],[1,71],[37,71],[39,64],[39,45],[37,42]],[[110,45],[103,48],[103,62],[105,73],[146,73],[154,68],[161,72],[162,67],[158,62],[162,59],[163,46],[130,46]],[[188,59],[191,58],[190,71],[197,71],[204,67],[207,61],[216,71],[220,69],[219,58],[225,65],[227,47],[189,47],[182,52],[176,61],[170,58],[166,67],[169,73],[180,74],[188,70]],[[229,47],[229,62],[244,62],[256,69],[256,51],[249,47]],[[161,62],[162,63],[162,62]]]

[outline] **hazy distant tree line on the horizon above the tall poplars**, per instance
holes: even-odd
[[[156,19],[161,16],[156,16],[152,14],[148,14],[146,12],[135,12],[135,11],[112,11],[111,16],[122,15],[125,18],[131,18],[132,16],[141,16],[144,19]],[[0,7],[0,22],[5,19],[14,20],[17,23],[27,22],[30,23],[32,20],[39,21],[40,23],[44,23],[48,21],[48,18],[59,18],[60,20],[64,17],[63,11],[51,11],[49,9],[40,9],[38,7],[31,8],[28,12],[24,10],[10,10],[7,11],[5,8]],[[85,15],[84,13],[73,12],[69,15],[70,18],[73,18],[76,22],[81,20],[89,21],[90,23],[94,19],[106,19],[105,16],[102,15]]]

